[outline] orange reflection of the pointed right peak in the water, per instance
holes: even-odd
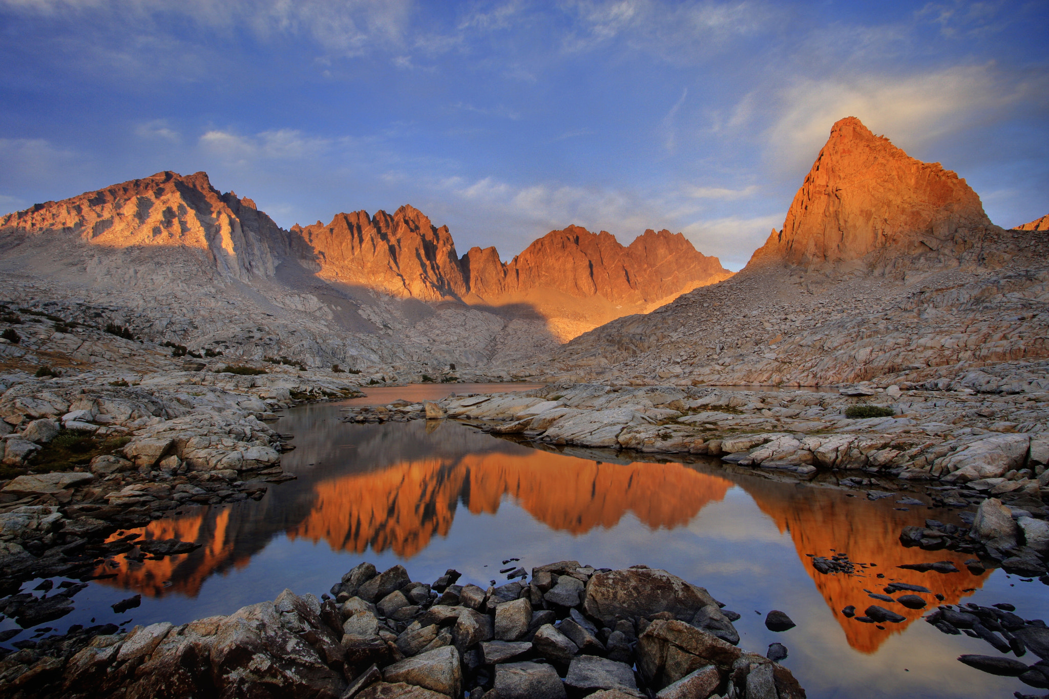
[[[812,576],[827,606],[834,613],[849,639],[849,645],[863,653],[874,653],[891,634],[902,633],[914,620],[921,618],[936,605],[958,604],[969,596],[972,589],[979,589],[990,572],[972,575],[965,567],[971,554],[954,553],[947,550],[923,551],[920,548],[904,548],[899,541],[900,530],[906,525],[924,526],[925,518],[936,519],[936,510],[924,507],[912,508],[909,512],[893,512],[887,517],[894,499],[877,502],[850,498],[839,490],[805,488],[792,493],[784,488],[763,487],[747,484],[750,494],[762,511],[776,523],[780,531],[790,531],[797,549],[798,559]],[[903,517],[895,517],[902,515]],[[906,520],[906,521],[901,521]],[[877,567],[865,570],[857,567],[856,574],[823,574],[812,566],[809,554],[830,558],[835,553],[847,553],[853,563],[875,563]],[[951,561],[957,573],[920,573],[916,570],[897,568],[901,564]],[[884,575],[877,577],[878,573]],[[864,592],[883,594],[883,588],[891,582],[921,585],[945,597],[938,602],[933,594],[921,594],[929,604],[924,610],[907,609],[903,605],[872,599]],[[965,590],[969,590],[966,592]],[[894,593],[896,597],[905,592]],[[879,605],[902,614],[905,621],[883,624],[885,630],[873,624],[862,624],[841,613],[848,605],[856,607],[857,615],[871,605]]]

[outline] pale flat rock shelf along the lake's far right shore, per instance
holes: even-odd
[[[355,422],[453,419],[537,442],[720,457],[811,478],[853,471],[950,483],[963,499],[1041,500],[1049,392],[864,383],[831,392],[550,384],[532,391],[346,409]],[[865,417],[869,414],[874,417]],[[1003,480],[997,480],[1003,479]]]

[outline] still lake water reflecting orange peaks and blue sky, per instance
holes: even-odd
[[[440,397],[390,392],[372,400]],[[881,592],[899,581],[928,587],[946,604],[1009,602],[1025,618],[1046,618],[1046,588],[1037,581],[1001,570],[972,575],[963,565],[968,555],[900,546],[900,528],[926,517],[960,524],[947,510],[908,505],[903,511],[894,498],[872,502],[862,490],[730,473],[716,460],[658,463],[613,452],[540,450],[453,421],[344,423],[341,405],[300,407],[277,423],[296,435],[297,449],[283,464],[297,480],[271,486],[259,502],[195,507],[153,522],[141,530],[147,537],[204,546],[162,561],[117,556],[116,577],[91,583],[76,596],[77,611],[49,626],[64,630],[92,617],[179,624],[273,599],[284,588],[320,595],[361,561],[380,570],[402,563],[423,582],[454,567],[464,573],[461,584],[483,587],[506,582],[497,571],[509,558],[526,569],[564,559],[609,568],[643,563],[708,588],[741,613],[742,648],[786,645],[783,662],[810,697],[1036,693],[958,662],[963,653],[998,653],[982,640],[940,633],[921,611],[890,605],[907,620],[884,630],[840,613],[847,605],[884,604],[864,590]],[[808,554],[835,552],[876,567],[854,575],[813,569]],[[896,568],[943,560],[960,572]],[[121,615],[109,609],[136,593],[141,607]],[[935,608],[936,599],[923,596]],[[772,609],[797,627],[768,631],[764,619]]]

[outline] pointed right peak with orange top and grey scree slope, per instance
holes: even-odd
[[[834,125],[787,214],[737,275],[558,348],[536,373],[682,385],[1033,380],[1049,354],[1049,232],[990,222],[940,163],[859,119]],[[1013,367],[1015,369],[1015,367]]]

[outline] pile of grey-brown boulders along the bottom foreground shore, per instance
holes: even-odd
[[[380,573],[362,563],[320,599],[285,590],[179,626],[72,629],[0,660],[0,691],[12,699],[806,696],[776,662],[783,645],[765,655],[737,648],[738,615],[666,571],[561,561],[507,572],[519,580],[483,589],[456,585],[454,570],[423,584],[403,566]],[[766,624],[793,626],[783,612]]]

